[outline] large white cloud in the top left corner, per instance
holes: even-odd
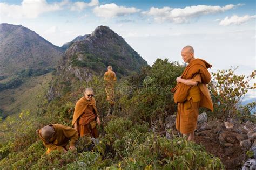
[[[68,1],[48,4],[46,0],[23,0],[21,5],[0,2],[0,15],[10,18],[36,18],[42,13],[61,10]]]

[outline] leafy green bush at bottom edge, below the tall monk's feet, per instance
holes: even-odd
[[[219,158],[185,138],[147,137],[131,157],[120,162],[124,169],[224,169]]]

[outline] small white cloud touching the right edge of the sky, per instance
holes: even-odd
[[[223,20],[220,21],[219,25],[241,25],[243,23],[248,22],[249,20],[252,20],[256,18],[256,15],[253,16],[249,16],[249,15],[245,15],[242,17],[239,17],[237,15],[233,15],[232,17],[225,17]]]

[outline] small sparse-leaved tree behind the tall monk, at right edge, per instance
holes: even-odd
[[[234,117],[239,112],[239,105],[249,89],[255,89],[249,84],[255,79],[256,70],[245,78],[245,75],[234,74],[238,67],[228,70],[217,70],[209,84],[214,104],[214,116],[217,118]]]

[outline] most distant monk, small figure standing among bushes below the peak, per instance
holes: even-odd
[[[114,105],[114,83],[117,81],[116,73],[112,71],[112,66],[107,67],[107,72],[104,74],[106,84],[107,101],[111,106]]]

